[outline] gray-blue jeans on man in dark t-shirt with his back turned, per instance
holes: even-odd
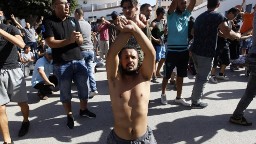
[[[213,58],[202,57],[195,53],[192,53],[192,58],[196,69],[196,79],[191,94],[191,102],[199,104],[201,102],[205,85],[209,81],[211,75]]]

